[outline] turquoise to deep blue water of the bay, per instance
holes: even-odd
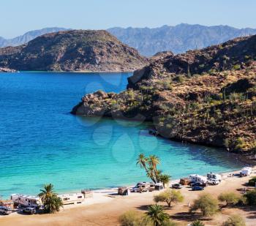
[[[145,123],[69,114],[83,94],[124,90],[130,75],[1,73],[0,195],[35,195],[45,183],[67,192],[145,181],[140,153],[156,154],[173,178],[241,167],[221,150],[149,136]]]

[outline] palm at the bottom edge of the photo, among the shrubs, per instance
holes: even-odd
[[[169,220],[169,215],[165,213],[162,206],[157,204],[149,206],[146,215],[151,219],[154,226],[160,226],[163,222],[167,222]]]

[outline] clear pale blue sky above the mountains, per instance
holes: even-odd
[[[1,0],[0,36],[59,26],[157,27],[178,23],[256,28],[255,0]]]

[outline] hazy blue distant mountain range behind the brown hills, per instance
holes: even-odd
[[[22,45],[42,34],[65,31],[64,28],[48,28],[29,31],[14,39],[0,37],[0,47]],[[177,26],[162,26],[156,29],[148,28],[112,28],[110,34],[121,42],[137,49],[143,56],[153,56],[156,53],[171,50],[173,53],[184,53],[187,50],[205,48],[226,42],[235,37],[256,34],[256,29],[236,29],[231,26],[201,26],[181,23]]]

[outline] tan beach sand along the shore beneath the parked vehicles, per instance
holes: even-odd
[[[256,168],[253,172],[255,173],[252,173],[252,176],[256,176]],[[250,178],[227,177],[228,174],[222,174],[224,179],[221,184],[208,186],[203,192],[208,192],[214,197],[217,197],[221,192],[238,192],[237,189],[244,188],[244,183]],[[184,203],[179,203],[172,208],[165,206],[167,213],[174,221],[180,222],[181,225],[187,225],[200,216],[198,214],[188,214],[188,203],[192,203],[203,192],[192,192],[188,187],[182,188],[181,193],[185,197]],[[158,193],[132,193],[129,196],[118,196],[115,195],[116,189],[102,190],[95,192],[94,197],[86,199],[83,204],[64,206],[64,210],[58,214],[30,216],[14,213],[9,216],[0,216],[0,225],[118,225],[118,216],[128,210],[146,211],[148,205],[154,203],[153,197]],[[165,205],[165,203],[162,203],[162,205]],[[206,225],[221,225],[232,214],[244,216],[247,226],[256,225],[256,208],[225,208],[213,218],[203,220]]]

